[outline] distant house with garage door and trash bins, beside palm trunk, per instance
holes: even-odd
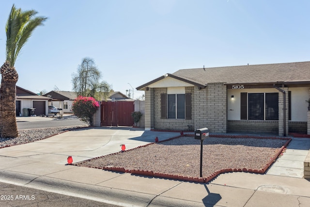
[[[48,114],[48,100],[51,99],[16,86],[16,116],[29,115],[28,109],[35,108],[34,115]]]

